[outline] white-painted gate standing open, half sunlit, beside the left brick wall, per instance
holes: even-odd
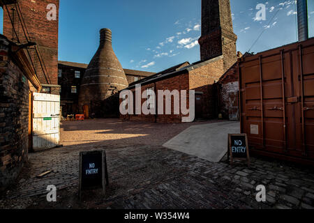
[[[33,151],[42,151],[59,145],[59,112],[59,95],[33,93]]]

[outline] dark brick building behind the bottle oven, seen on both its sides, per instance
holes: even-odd
[[[62,116],[78,114],[78,95],[80,93],[80,84],[82,77],[87,69],[87,63],[73,63],[68,61],[59,61],[58,63],[58,84],[61,86],[61,107]],[[140,70],[124,69],[128,84],[136,82],[150,75],[153,72],[144,72]]]

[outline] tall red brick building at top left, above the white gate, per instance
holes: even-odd
[[[59,0],[8,0],[3,6],[3,35],[27,47],[27,56],[43,92],[59,94]]]

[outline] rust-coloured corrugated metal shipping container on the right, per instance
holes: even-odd
[[[314,164],[314,38],[239,59],[251,153]]]

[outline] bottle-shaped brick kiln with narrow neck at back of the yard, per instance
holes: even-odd
[[[127,86],[124,69],[112,49],[112,32],[110,29],[101,29],[100,45],[82,79],[80,112],[86,118],[90,114],[96,117],[112,116],[117,113],[114,109],[119,108],[117,93]]]

